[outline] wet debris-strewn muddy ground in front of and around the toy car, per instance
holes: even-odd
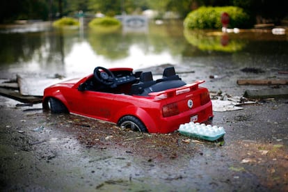
[[[255,88],[202,77],[211,92]],[[288,191],[287,98],[214,112],[212,124],[226,131],[216,142],[177,131],[141,134],[17,104],[0,97],[1,191]]]

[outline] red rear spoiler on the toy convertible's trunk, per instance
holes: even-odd
[[[148,95],[158,97],[159,99],[166,99],[168,97],[174,97],[175,95],[180,95],[182,93],[188,93],[191,90],[196,90],[198,89],[198,85],[204,82],[205,82],[204,80],[198,80],[198,81],[195,81],[194,83],[189,83],[179,88],[171,88],[168,90],[149,93]]]

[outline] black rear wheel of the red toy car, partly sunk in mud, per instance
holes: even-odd
[[[145,127],[143,122],[131,115],[120,118],[120,120],[118,121],[118,126],[125,129],[131,129],[132,131],[140,131],[143,133],[147,132],[147,128]]]

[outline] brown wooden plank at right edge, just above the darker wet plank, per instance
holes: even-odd
[[[287,85],[287,79],[238,79],[238,85]]]

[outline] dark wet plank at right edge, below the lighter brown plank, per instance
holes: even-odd
[[[270,88],[261,90],[246,90],[244,97],[253,99],[288,98],[288,88]]]

